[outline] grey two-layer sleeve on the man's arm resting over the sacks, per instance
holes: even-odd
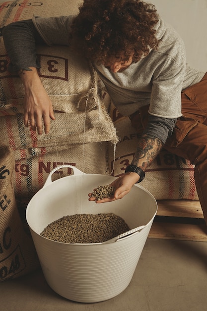
[[[37,17],[5,26],[2,36],[10,59],[8,70],[16,72],[40,68],[36,58],[37,45],[69,45],[72,16]]]

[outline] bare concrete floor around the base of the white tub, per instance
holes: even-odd
[[[2,311],[206,311],[207,243],[148,238],[130,285],[104,302],[62,298],[41,271],[0,283]]]

